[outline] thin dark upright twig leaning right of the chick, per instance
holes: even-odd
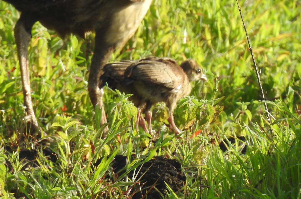
[[[247,36],[247,41],[248,41],[248,44],[249,44],[249,49],[250,49],[250,52],[251,52],[251,56],[252,56],[252,60],[253,60],[253,64],[254,64],[254,68],[255,68],[255,72],[256,72],[256,77],[257,77],[257,80],[258,80],[258,84],[259,84],[259,89],[260,89],[260,92],[261,92],[261,98],[263,99],[263,104],[264,104],[264,107],[265,107],[265,116],[266,118],[268,119],[268,122],[271,122],[271,117],[270,117],[270,112],[268,111],[268,105],[265,103],[265,95],[264,95],[264,91],[262,89],[262,85],[261,85],[261,81],[260,81],[260,75],[259,75],[259,72],[258,72],[258,69],[257,69],[257,65],[256,65],[256,62],[255,62],[255,58],[254,58],[254,55],[253,55],[253,49],[252,49],[252,46],[251,46],[251,43],[250,43],[250,39],[249,39],[249,35],[248,35],[248,32],[247,32],[247,28],[246,28],[246,25],[244,23],[244,19],[243,19],[243,16],[241,14],[241,9],[238,5],[238,0],[236,0],[236,3],[237,3],[237,6],[238,6],[238,10],[239,10],[239,13],[240,13],[240,17],[241,17],[241,20],[243,22],[243,25],[244,25],[244,30],[246,32],[246,36]]]

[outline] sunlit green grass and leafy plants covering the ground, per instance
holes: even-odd
[[[25,134],[13,37],[19,13],[0,1],[0,197],[126,198],[132,177],[103,179],[114,155],[167,154],[181,162],[187,180],[181,193],[171,191],[166,198],[301,198],[301,4],[239,3],[275,118],[272,125],[264,115],[236,2],[154,0],[135,37],[111,60],[193,58],[209,80],[195,83],[191,96],[175,109],[180,129],[196,120],[182,138],[175,139],[163,127],[166,108],[153,108],[152,126],[160,132],[157,143],[149,142],[143,130],[138,136],[132,126],[136,108],[128,96],[109,89],[104,103],[110,131],[100,139],[100,112],[87,90],[94,35],[62,40],[36,23],[29,46],[33,105],[43,130],[57,138],[50,146],[59,157],[54,164],[36,145],[36,137]],[[197,130],[202,131],[191,138]],[[219,148],[217,143],[229,136],[246,138],[246,154],[238,145],[230,145],[227,152]],[[38,167],[18,158],[24,148],[38,148]],[[105,158],[92,170],[90,163],[100,157]],[[138,165],[132,162],[126,169]]]

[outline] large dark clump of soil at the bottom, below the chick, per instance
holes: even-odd
[[[132,156],[131,158],[134,159],[135,157]],[[124,173],[123,168],[126,166],[126,159],[127,157],[122,155],[115,156],[112,161],[115,175]],[[181,190],[186,180],[185,174],[181,171],[181,164],[175,159],[164,158],[164,156],[154,156],[151,160],[141,164],[141,167],[137,167],[136,173],[134,170],[128,173],[128,176],[133,175],[137,176],[136,179],[138,180],[137,185],[132,188],[132,193],[129,194],[133,199],[161,198],[160,193],[163,196],[167,193],[166,184],[176,193]]]

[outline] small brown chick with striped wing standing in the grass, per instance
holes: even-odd
[[[165,57],[149,57],[135,62],[126,62],[130,63],[130,65],[126,68],[124,77],[121,78],[123,80],[112,81],[112,77],[114,76],[113,70],[108,69],[114,67],[116,64],[118,65],[118,63],[107,64],[104,67],[104,74],[107,75],[102,80],[110,82],[113,88],[121,92],[133,94],[130,100],[133,101],[138,109],[136,130],[138,130],[138,124],[142,118],[141,111],[144,109],[148,129],[151,132],[151,106],[159,102],[164,102],[169,109],[169,124],[175,131],[175,134],[181,133],[175,126],[173,110],[179,99],[189,95],[191,81],[207,81],[200,66],[191,59],[184,61],[179,66],[175,60]],[[121,65],[125,65],[126,62],[122,61]],[[118,68],[121,67],[119,66]],[[109,76],[110,78],[107,78]],[[109,87],[110,84],[108,83]]]

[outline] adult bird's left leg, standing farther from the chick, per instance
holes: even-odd
[[[17,21],[14,28],[15,39],[17,44],[17,52],[19,58],[19,65],[21,71],[21,79],[23,85],[24,106],[26,111],[25,121],[30,122],[31,130],[37,131],[41,136],[41,129],[39,128],[36,115],[33,111],[33,104],[31,101],[31,89],[29,79],[28,67],[28,46],[31,40],[31,28],[37,20],[26,13],[22,13],[20,19]]]

